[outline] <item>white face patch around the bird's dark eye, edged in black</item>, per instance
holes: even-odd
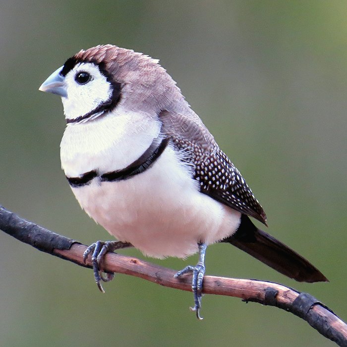
[[[76,77],[86,72],[90,80],[79,84]],[[92,63],[79,63],[69,71],[64,79],[67,97],[61,98],[66,119],[84,116],[108,101],[112,96],[112,85]]]

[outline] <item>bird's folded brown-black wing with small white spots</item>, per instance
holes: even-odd
[[[193,165],[200,191],[266,225],[258,200],[201,119],[190,109],[188,115],[165,111],[160,119],[165,135],[177,149],[188,153],[186,159]]]

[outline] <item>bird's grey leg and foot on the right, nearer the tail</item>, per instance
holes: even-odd
[[[205,275],[205,253],[207,245],[205,243],[199,242],[199,261],[196,266],[188,265],[183,270],[178,271],[174,277],[180,277],[187,273],[193,273],[193,280],[191,289],[194,294],[194,307],[191,310],[196,313],[198,319],[203,319],[200,317],[201,309],[201,297],[202,297],[202,283]]]

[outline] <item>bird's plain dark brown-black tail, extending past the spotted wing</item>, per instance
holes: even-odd
[[[299,282],[329,282],[326,277],[301,255],[275,237],[258,229],[242,215],[238,230],[222,240],[259,259],[266,265]]]

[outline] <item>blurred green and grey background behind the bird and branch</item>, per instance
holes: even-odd
[[[307,291],[346,320],[346,17],[346,1],[1,0],[0,204],[86,244],[110,238],[70,192],[62,105],[38,88],[82,48],[144,52],[246,178],[269,232],[331,282],[296,283],[227,244],[209,247],[207,274]],[[205,295],[199,322],[189,292],[117,275],[101,294],[91,270],[2,232],[0,264],[0,346],[335,346],[292,314],[236,298]]]

